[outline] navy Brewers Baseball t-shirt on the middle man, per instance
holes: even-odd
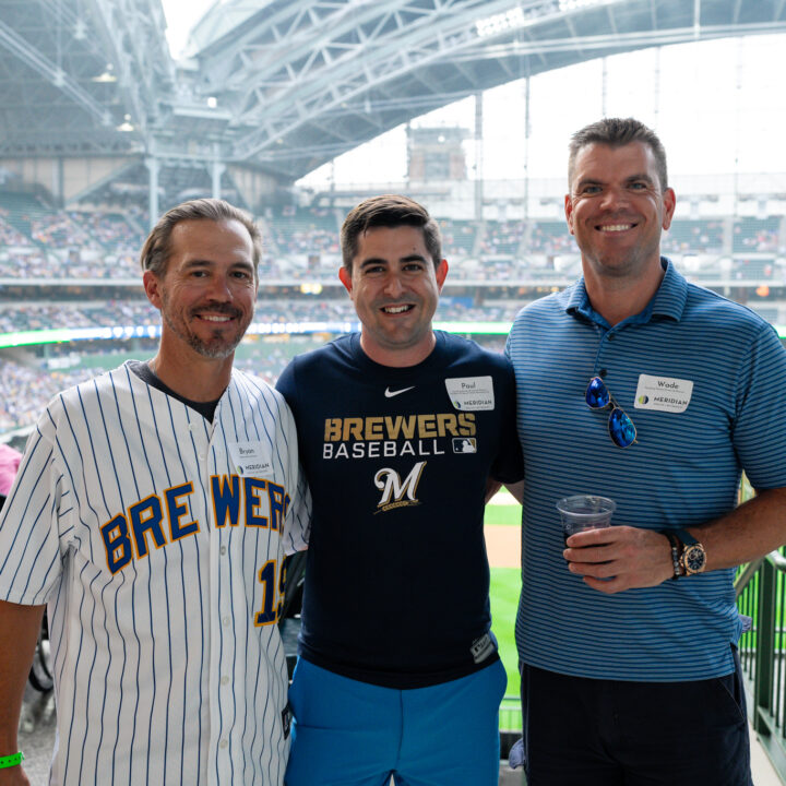
[[[313,496],[300,655],[417,688],[497,657],[484,498],[523,475],[512,368],[440,331],[428,358],[373,362],[359,334],[301,355],[278,390]],[[475,645],[475,646],[474,646]]]

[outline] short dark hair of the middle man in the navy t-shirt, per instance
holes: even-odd
[[[422,230],[426,250],[434,267],[442,261],[442,238],[437,222],[415,200],[400,194],[382,194],[364,200],[349,211],[341,230],[344,267],[352,274],[352,262],[357,255],[358,237],[374,227],[413,226]]]

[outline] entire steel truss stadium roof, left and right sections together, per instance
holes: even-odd
[[[229,0],[175,62],[160,0],[0,8],[0,157],[234,162],[287,181],[517,78],[786,29],[786,0]]]

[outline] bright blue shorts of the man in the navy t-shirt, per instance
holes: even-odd
[[[429,688],[358,682],[298,660],[285,786],[497,786],[500,660]]]

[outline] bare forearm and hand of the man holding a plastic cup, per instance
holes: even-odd
[[[786,488],[760,491],[720,519],[687,529],[706,550],[705,570],[763,557],[786,543]],[[568,545],[569,570],[605,593],[655,586],[674,575],[668,539],[654,529],[594,529],[572,535]]]

